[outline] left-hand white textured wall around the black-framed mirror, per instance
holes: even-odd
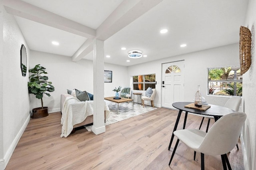
[[[28,62],[30,50],[14,19],[14,16],[2,10],[3,15],[3,53],[2,53],[2,114],[3,114],[3,155],[4,166],[28,121],[30,120],[30,107],[28,95],[28,74],[22,76],[20,69],[20,48],[24,44],[27,49]],[[2,41],[1,40],[1,41]],[[1,159],[1,158],[0,158]],[[2,162],[1,162],[2,163]],[[0,166],[2,168],[2,166]]]

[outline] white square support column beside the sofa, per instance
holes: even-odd
[[[93,41],[93,126],[92,132],[106,132],[104,123],[104,41]]]

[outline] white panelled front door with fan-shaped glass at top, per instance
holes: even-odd
[[[184,60],[162,64],[162,107],[184,100]]]

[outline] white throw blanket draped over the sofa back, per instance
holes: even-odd
[[[110,111],[106,101],[104,110],[107,119]],[[67,137],[72,132],[74,125],[83,122],[90,115],[93,115],[93,101],[80,101],[76,97],[67,97],[62,109],[60,137]]]

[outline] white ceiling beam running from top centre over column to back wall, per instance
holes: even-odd
[[[97,28],[96,39],[102,41],[107,40],[162,1],[163,0],[124,0]],[[72,61],[79,61],[93,50],[92,45],[88,45],[89,42],[91,43],[92,40],[87,40],[86,43],[78,49],[80,52],[76,51],[72,56]],[[87,49],[86,46],[90,47],[90,49]]]

